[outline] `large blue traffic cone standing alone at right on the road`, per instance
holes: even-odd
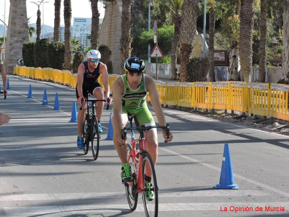
[[[216,184],[217,189],[238,189],[234,183],[233,167],[231,163],[229,144],[224,146],[223,162],[220,176],[220,183]]]

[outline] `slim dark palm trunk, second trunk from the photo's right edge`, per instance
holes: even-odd
[[[261,0],[260,11],[260,59],[258,82],[265,83],[266,37],[267,37],[267,0]]]

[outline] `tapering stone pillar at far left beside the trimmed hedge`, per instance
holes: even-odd
[[[8,74],[13,73],[17,60],[22,60],[22,47],[29,41],[26,0],[10,0],[7,42],[4,65]]]

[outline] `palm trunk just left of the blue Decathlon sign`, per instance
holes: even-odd
[[[64,44],[64,69],[70,70],[72,66],[71,0],[64,0]]]

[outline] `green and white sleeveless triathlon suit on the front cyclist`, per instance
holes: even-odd
[[[137,90],[129,87],[126,75],[121,76],[124,84],[124,95],[122,95],[122,112],[125,114],[134,114],[140,125],[155,125],[154,118],[150,110],[147,108],[147,90],[145,75],[143,74],[141,85]],[[149,126],[148,125],[148,126]]]

